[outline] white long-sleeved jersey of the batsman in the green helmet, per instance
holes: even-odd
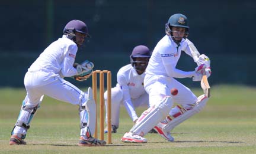
[[[177,78],[191,77],[192,72],[175,68],[180,59],[181,51],[185,51],[186,54],[191,56],[191,48],[188,46],[188,42],[190,42],[188,39],[184,40],[183,38],[180,44],[177,44],[171,37],[165,35],[153,50],[146,68],[146,74]]]

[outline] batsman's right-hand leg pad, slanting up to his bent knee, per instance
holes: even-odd
[[[204,108],[208,100],[209,99],[203,94],[197,98],[197,102],[193,109],[186,111],[185,113],[181,114],[176,118],[167,118],[167,124],[163,127],[165,132],[171,132],[171,130],[174,129],[174,127],[178,126],[178,124],[184,122],[194,114],[199,113]]]

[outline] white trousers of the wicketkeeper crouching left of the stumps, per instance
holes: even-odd
[[[51,76],[50,82],[44,83],[41,78],[38,78],[39,74],[43,76],[45,73],[28,72],[25,75],[24,84],[27,90],[25,104],[27,106],[37,106],[43,94],[71,104],[82,104],[87,101],[87,94],[63,78]]]

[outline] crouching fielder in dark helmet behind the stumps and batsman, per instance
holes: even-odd
[[[119,128],[120,105],[124,104],[130,119],[136,123],[136,108],[149,106],[149,95],[144,89],[145,70],[148,66],[151,51],[145,45],[137,45],[130,55],[130,64],[124,65],[117,73],[116,87],[111,89],[111,131],[116,133]],[[107,91],[104,93],[107,110]],[[106,112],[105,122],[108,114]],[[104,132],[107,133],[107,126]]]

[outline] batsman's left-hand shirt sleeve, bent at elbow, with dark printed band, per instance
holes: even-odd
[[[174,53],[169,53],[167,47],[160,48],[159,52],[161,54],[162,63],[164,64],[169,77],[185,78],[193,76],[193,71],[182,71],[176,68],[177,62],[175,60]]]

